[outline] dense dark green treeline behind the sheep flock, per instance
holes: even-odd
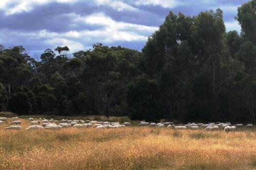
[[[142,53],[97,43],[70,58],[58,46],[38,62],[22,46],[1,46],[0,109],[255,123],[256,0],[236,19],[241,34],[226,33],[220,9],[170,12]]]

